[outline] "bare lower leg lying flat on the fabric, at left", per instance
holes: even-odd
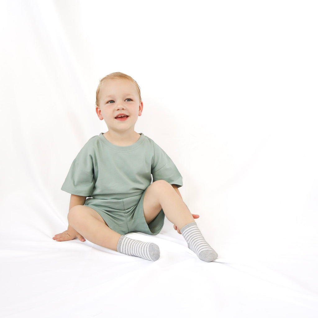
[[[93,209],[75,205],[68,213],[68,223],[90,242],[117,251],[121,234],[110,229]]]

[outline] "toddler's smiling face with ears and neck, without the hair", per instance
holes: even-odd
[[[106,122],[109,131],[133,132],[142,108],[142,101],[131,81],[106,79],[102,83],[96,113],[100,120]]]

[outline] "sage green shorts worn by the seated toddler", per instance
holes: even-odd
[[[84,205],[99,213],[108,227],[121,235],[129,232],[157,235],[163,227],[164,213],[161,210],[156,218],[149,224],[146,223],[143,214],[143,197],[146,190],[142,195],[122,200],[88,198]]]

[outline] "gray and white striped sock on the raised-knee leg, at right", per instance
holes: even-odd
[[[212,262],[218,258],[218,254],[204,239],[197,223],[193,222],[183,226],[180,232],[187,241],[190,250],[195,252],[199,259]]]

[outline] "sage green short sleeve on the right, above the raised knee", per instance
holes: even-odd
[[[151,162],[153,181],[165,180],[170,184],[176,184],[178,187],[181,187],[182,176],[176,165],[157,144],[153,143],[153,147],[154,156]]]

